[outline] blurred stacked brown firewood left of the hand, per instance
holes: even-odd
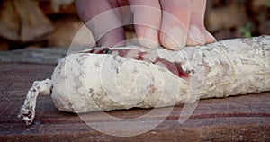
[[[83,25],[73,0],[4,0],[0,7],[0,50],[66,47]]]

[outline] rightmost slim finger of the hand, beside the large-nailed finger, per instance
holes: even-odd
[[[204,27],[206,0],[192,0],[192,14],[188,32],[187,45],[204,45],[215,41],[215,38]]]

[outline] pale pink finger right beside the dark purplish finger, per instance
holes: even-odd
[[[156,49],[159,47],[158,35],[161,11],[158,0],[129,0],[134,14],[135,32],[141,46]]]

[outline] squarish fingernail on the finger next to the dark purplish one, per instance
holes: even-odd
[[[157,49],[158,43],[158,31],[153,28],[146,28],[143,33],[143,39],[139,40],[139,44],[146,48]]]

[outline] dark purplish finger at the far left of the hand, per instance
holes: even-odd
[[[76,0],[76,11],[86,26],[92,31],[97,46],[113,47],[124,44],[124,30],[117,10],[106,1]],[[117,45],[124,46],[124,45]]]

